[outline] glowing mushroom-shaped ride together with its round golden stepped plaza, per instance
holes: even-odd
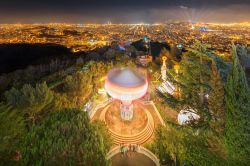
[[[148,91],[147,77],[136,69],[115,68],[105,80],[112,100],[99,108],[93,119],[106,123],[116,145],[150,141],[156,125],[162,124],[152,103],[142,99]]]

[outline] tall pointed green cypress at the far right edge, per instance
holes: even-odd
[[[236,48],[232,46],[233,68],[226,84],[225,144],[231,165],[250,162],[250,92]]]

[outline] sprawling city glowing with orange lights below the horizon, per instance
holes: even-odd
[[[250,44],[250,23],[205,24],[2,24],[0,43],[56,43],[73,52],[91,51],[110,45],[131,43],[145,35],[151,40],[192,46],[196,40],[210,44],[220,55],[229,56],[230,44]]]

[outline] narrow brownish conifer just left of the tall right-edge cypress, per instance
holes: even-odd
[[[215,61],[212,61],[211,70],[211,79],[209,81],[211,91],[208,97],[208,108],[212,115],[211,126],[218,134],[221,134],[225,125],[225,92]]]

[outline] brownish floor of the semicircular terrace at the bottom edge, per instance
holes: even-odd
[[[137,152],[129,152],[127,156],[120,153],[111,158],[112,166],[155,166],[155,163],[145,156]]]

